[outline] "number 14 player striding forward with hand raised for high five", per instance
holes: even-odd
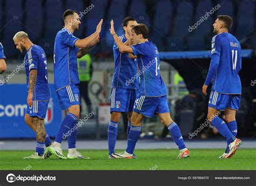
[[[144,116],[158,115],[161,122],[168,127],[173,140],[179,147],[178,159],[190,156],[178,125],[171,119],[167,104],[167,89],[160,75],[160,60],[157,46],[147,39],[149,30],[145,24],[136,25],[131,31],[131,41],[134,45],[127,46],[116,35],[114,23],[111,20],[110,33],[120,52],[130,53],[138,59],[140,86],[133,107],[131,129],[128,134],[127,148],[122,153],[113,153],[114,158],[134,158],[133,151],[138,141]]]

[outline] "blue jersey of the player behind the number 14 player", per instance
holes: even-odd
[[[126,37],[119,36],[119,39],[125,43]],[[129,88],[138,89],[139,78],[134,78],[137,74],[137,59],[131,59],[128,53],[119,52],[116,42],[113,45],[114,53],[114,74],[111,88]],[[130,81],[129,81],[130,80]]]

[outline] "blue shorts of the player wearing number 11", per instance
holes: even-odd
[[[239,109],[241,100],[240,94],[221,94],[212,91],[208,102],[208,107],[213,107],[218,111],[225,111],[226,108]]]

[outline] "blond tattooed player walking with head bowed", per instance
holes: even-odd
[[[46,55],[42,47],[34,45],[28,34],[23,31],[16,33],[14,44],[19,51],[26,51],[24,64],[26,86],[28,87],[28,106],[25,121],[36,132],[36,153],[24,157],[24,159],[44,159],[49,156],[51,145],[51,140],[44,128],[44,118],[50,100]],[[46,146],[45,150],[44,146]]]

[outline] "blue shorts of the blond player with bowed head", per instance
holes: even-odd
[[[48,104],[49,101],[33,100],[32,107],[26,106],[26,114],[29,114],[30,117],[37,116],[38,118],[45,119]]]

